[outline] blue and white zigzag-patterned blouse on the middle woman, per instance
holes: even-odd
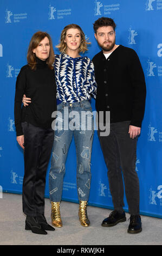
[[[65,53],[55,55],[57,103],[90,100],[96,95],[94,65],[88,57],[72,58]]]

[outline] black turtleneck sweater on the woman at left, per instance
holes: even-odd
[[[29,106],[22,107],[22,97],[31,98]],[[15,92],[16,135],[23,135],[21,123],[27,121],[44,129],[51,127],[53,111],[56,111],[55,71],[49,69],[46,61],[37,58],[36,70],[29,65],[21,68],[17,76]]]

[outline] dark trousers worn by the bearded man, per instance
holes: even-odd
[[[124,184],[131,215],[139,214],[139,179],[135,171],[137,137],[128,133],[130,121],[110,124],[109,136],[98,136],[108,168],[109,188],[114,209],[120,212],[124,206]],[[124,184],[122,179],[124,178]]]

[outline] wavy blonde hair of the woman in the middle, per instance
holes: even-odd
[[[66,42],[64,42],[65,38],[66,38],[66,33],[67,30],[70,28],[77,28],[80,31],[81,34],[81,43],[80,43],[80,47],[78,49],[78,52],[86,52],[88,50],[87,45],[91,44],[90,42],[87,42],[88,39],[85,38],[85,34],[82,31],[81,27],[79,25],[76,24],[69,24],[66,27],[64,27],[63,31],[61,32],[61,39],[60,39],[60,44],[57,45],[56,47],[59,48],[59,51],[62,53],[66,53],[66,49],[67,49],[67,45]]]

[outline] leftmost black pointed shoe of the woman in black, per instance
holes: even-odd
[[[47,235],[47,232],[43,230],[38,223],[37,218],[33,216],[27,216],[25,220],[25,230],[31,230],[35,234]]]

